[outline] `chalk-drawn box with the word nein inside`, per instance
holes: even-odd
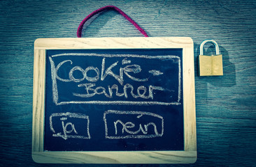
[[[104,113],[106,138],[155,138],[164,134],[164,118],[143,111],[114,111]]]

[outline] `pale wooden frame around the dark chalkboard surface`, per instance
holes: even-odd
[[[184,151],[44,152],[45,53],[47,49],[183,49]],[[32,158],[38,163],[187,164],[197,160],[191,38],[42,38],[34,43]]]

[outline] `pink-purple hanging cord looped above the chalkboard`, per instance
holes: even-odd
[[[148,37],[148,34],[145,33],[145,31],[143,29],[141,29],[140,26],[138,26],[138,24],[136,24],[136,22],[134,22],[134,20],[132,20],[129,16],[127,16],[122,10],[120,10],[120,8],[115,7],[115,6],[105,6],[103,8],[99,8],[97,10],[94,10],[90,15],[87,15],[87,17],[85,17],[85,19],[83,19],[83,21],[80,23],[80,25],[78,26],[78,31],[77,31],[77,36],[78,38],[82,37],[82,29],[83,29],[83,25],[85,24],[85,22],[87,22],[88,19],[90,19],[92,16],[96,15],[97,13],[102,12],[103,10],[117,10],[123,17],[125,17],[126,19],[128,19],[129,22],[131,22],[131,24],[134,24],[134,26],[136,27],[136,29],[138,29],[138,31],[140,31],[145,37]]]

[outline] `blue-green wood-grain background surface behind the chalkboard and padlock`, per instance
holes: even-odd
[[[107,5],[123,10],[151,37],[191,37],[196,60],[197,162],[115,166],[256,166],[256,1],[242,0],[0,1],[0,166],[113,166],[31,159],[34,40],[74,38],[80,21]],[[143,35],[113,10],[83,31],[91,38],[133,36]],[[198,77],[199,45],[208,38],[220,46],[223,77]]]

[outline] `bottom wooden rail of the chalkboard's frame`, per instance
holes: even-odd
[[[33,152],[33,158],[50,164],[190,164],[196,161],[195,154],[196,151]]]

